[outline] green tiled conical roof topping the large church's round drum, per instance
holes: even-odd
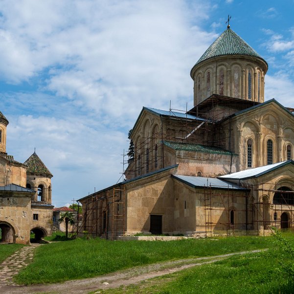
[[[206,59],[222,55],[249,55],[257,57],[267,64],[253,48],[228,27],[204,52],[195,66]]]

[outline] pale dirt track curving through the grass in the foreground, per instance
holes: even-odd
[[[181,271],[187,268],[191,268],[191,267],[195,267],[195,266],[199,266],[203,264],[213,263],[233,255],[256,253],[262,250],[265,250],[265,249],[235,252],[235,253],[228,253],[228,254],[209,256],[209,257],[199,257],[199,258],[190,258],[190,259],[180,259],[176,261],[167,261],[167,262],[162,262],[162,263],[153,264],[153,265],[135,267],[135,268],[127,269],[124,271],[113,272],[113,273],[98,276],[95,278],[87,278],[82,280],[70,280],[64,283],[20,286],[20,285],[15,285],[9,282],[5,285],[0,286],[2,287],[0,288],[0,293],[1,294],[33,294],[33,293],[87,294],[90,291],[94,291],[97,289],[111,289],[111,288],[117,288],[119,286],[127,286],[130,284],[136,284],[137,282],[144,281],[146,279],[162,276],[168,273]]]

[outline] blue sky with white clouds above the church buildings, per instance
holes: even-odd
[[[293,11],[293,0],[0,0],[7,152],[23,162],[36,147],[56,206],[112,185],[143,106],[192,108],[190,69],[228,14],[269,63],[266,100],[294,107]]]

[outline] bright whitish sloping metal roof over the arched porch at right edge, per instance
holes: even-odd
[[[233,173],[230,175],[220,176],[219,179],[226,179],[226,180],[247,180],[252,178],[260,177],[266,173],[269,173],[279,167],[282,167],[287,164],[294,164],[293,160],[282,161],[274,164],[269,164],[265,166],[250,168],[244,171],[240,171],[237,173]]]

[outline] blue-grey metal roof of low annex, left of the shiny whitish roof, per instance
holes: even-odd
[[[194,177],[194,176],[181,176],[173,175],[174,179],[184,182],[192,187],[211,187],[216,189],[230,189],[230,190],[242,190],[247,189],[233,184],[228,181],[223,181],[217,178],[204,178],[204,177]]]

